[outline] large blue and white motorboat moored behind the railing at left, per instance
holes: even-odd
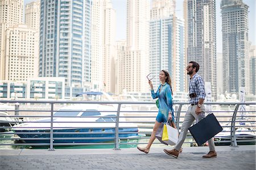
[[[53,113],[53,143],[114,141],[116,113],[114,107],[101,104],[80,104],[61,108]],[[41,118],[15,125],[12,129],[15,134],[14,142],[49,143],[50,121],[50,118]],[[126,122],[122,117],[119,122],[119,138],[139,136],[137,125]]]

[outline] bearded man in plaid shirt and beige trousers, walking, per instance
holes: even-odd
[[[189,107],[188,111],[185,114],[183,124],[181,126],[181,132],[179,135],[179,139],[172,150],[164,149],[166,154],[177,158],[179,156],[179,150],[181,145],[183,144],[185,138],[187,137],[188,128],[192,125],[193,121],[201,121],[205,117],[205,88],[203,78],[197,74],[199,70],[199,64],[195,61],[191,61],[187,66],[187,74],[190,76],[189,82]],[[215,146],[213,142],[213,138],[208,141],[210,151],[208,154],[204,155],[203,158],[213,158],[217,156],[215,151]]]

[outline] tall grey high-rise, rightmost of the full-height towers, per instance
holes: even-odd
[[[221,1],[223,88],[249,91],[248,6],[242,0]]]

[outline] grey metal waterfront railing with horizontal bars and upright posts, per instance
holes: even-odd
[[[125,127],[120,127],[119,124],[120,123],[126,123],[123,121],[119,121],[119,118],[154,118],[154,116],[120,116],[120,113],[137,113],[137,112],[141,112],[141,113],[154,113],[155,111],[121,111],[122,105],[143,105],[143,104],[150,104],[153,105],[155,104],[154,102],[144,102],[144,101],[27,101],[27,100],[0,100],[0,103],[35,103],[35,104],[49,104],[51,106],[51,110],[46,109],[46,111],[38,111],[38,110],[11,110],[11,111],[16,111],[16,112],[50,112],[51,116],[19,116],[19,115],[15,115],[15,116],[9,116],[9,117],[49,117],[50,121],[49,122],[40,122],[40,121],[24,121],[24,122],[38,122],[38,123],[50,123],[50,127],[48,127],[49,133],[48,132],[44,132],[43,134],[49,134],[49,151],[54,151],[53,146],[56,145],[56,143],[54,143],[55,139],[64,139],[64,138],[55,138],[53,137],[53,134],[66,134],[66,132],[56,132],[53,131],[53,128],[65,128],[65,127],[53,127],[54,124],[56,123],[63,123],[65,121],[54,121],[53,118],[56,117],[61,117],[61,116],[54,116],[53,112],[56,112],[53,108],[55,104],[113,104],[113,105],[117,105],[116,110],[113,111],[101,111],[101,112],[115,112],[117,113],[117,116],[110,116],[110,117],[115,117],[115,122],[111,122],[111,123],[115,123],[115,126],[113,127],[115,129],[114,133],[109,133],[109,134],[114,134],[114,150],[119,150],[119,139],[124,139],[123,137],[121,137],[119,134],[128,134],[127,132],[121,132],[119,131],[120,128],[125,128]],[[181,113],[185,113],[185,111],[181,111],[183,109],[183,105],[188,105],[189,103],[186,102],[179,102],[179,103],[174,103],[174,105],[179,105],[179,108],[177,109],[177,111],[175,111],[176,113],[176,126],[177,129],[180,129],[180,123],[182,123],[182,121],[180,121],[180,118],[184,118],[184,116],[181,116]],[[220,122],[231,122],[231,126],[223,126],[223,127],[230,127],[230,143],[232,147],[238,147],[237,144],[237,138],[236,138],[236,128],[239,128],[240,126],[236,126],[236,122],[245,122],[245,121],[237,121],[237,113],[241,112],[238,111],[238,108],[240,105],[256,105],[255,102],[246,102],[246,103],[239,103],[239,102],[212,102],[212,103],[205,103],[205,104],[210,104],[210,105],[227,105],[230,107],[236,107],[236,109],[234,109],[233,111],[233,116],[219,116],[219,117],[231,117],[232,121],[220,121]],[[1,105],[0,105],[0,111],[1,111]],[[68,112],[68,111],[67,111]],[[93,112],[93,111],[92,111]],[[212,112],[230,112],[230,111],[212,111]],[[251,112],[254,113],[255,111],[242,111],[242,112]],[[242,113],[241,112],[241,113]],[[231,112],[230,112],[231,113]],[[0,117],[5,117],[5,116],[0,116]],[[75,116],[67,116],[65,118],[68,117],[75,117]],[[84,116],[82,118],[86,118],[86,117],[90,117],[90,116]],[[101,116],[93,116],[93,117],[101,117]],[[218,116],[216,116],[218,117]],[[256,117],[256,116],[243,116],[243,117]],[[5,122],[5,121],[4,121]],[[9,123],[13,122],[13,121],[7,121]],[[76,123],[82,123],[84,121],[76,121]],[[254,120],[248,121],[248,122],[255,122]],[[74,122],[75,123],[75,122]],[[88,123],[91,123],[90,121],[88,121]],[[102,122],[101,122],[102,123]],[[109,123],[109,122],[108,122]],[[151,121],[129,121],[127,123],[137,123],[137,124],[143,124],[143,123],[149,123],[150,125],[152,125],[154,122]],[[256,125],[256,124],[255,124]],[[245,126],[241,126],[241,127],[245,127]],[[255,126],[250,126],[251,128],[254,128]],[[7,126],[2,126],[2,128],[7,128]],[[19,127],[22,128],[22,127]],[[33,127],[31,127],[33,128]],[[43,128],[43,127],[41,127]],[[46,128],[46,127],[44,127]],[[72,128],[79,128],[79,126],[77,127],[72,127]],[[93,127],[89,127],[89,128],[93,128]],[[95,129],[97,129],[98,127],[96,127]],[[152,127],[143,127],[144,129],[151,129]],[[101,128],[98,128],[101,129]],[[250,130],[250,131],[254,131],[254,130]],[[86,134],[86,133],[82,133],[79,132],[81,134]],[[145,134],[149,134],[150,132],[145,131]],[[18,133],[17,133],[18,134]],[[30,134],[33,134],[33,132],[30,132]],[[41,134],[41,133],[38,133]],[[67,132],[67,134],[76,134],[76,133],[72,133],[72,132]],[[93,132],[91,134],[97,134],[96,132]],[[98,133],[98,134],[108,134],[107,132],[102,132],[102,133]],[[67,137],[66,137],[67,138]],[[144,137],[142,137],[144,138]],[[146,138],[146,137],[145,137]],[[190,138],[190,137],[189,137]],[[38,138],[40,139],[40,138]],[[48,138],[47,138],[48,139]],[[69,138],[67,138],[69,139]],[[85,138],[76,138],[76,139],[85,139]],[[91,138],[94,139],[94,138]],[[100,139],[100,138],[99,138]],[[33,139],[34,140],[34,139]],[[36,139],[35,139],[36,140]],[[0,139],[1,141],[1,139]],[[246,140],[245,140],[246,141]],[[220,143],[222,141],[219,141]],[[34,143],[35,144],[35,143]],[[45,143],[44,143],[45,144]],[[58,145],[66,145],[66,143],[58,143]],[[6,145],[6,144],[0,144],[0,145]],[[12,144],[11,144],[12,145]],[[19,144],[20,145],[20,144]],[[81,145],[81,143],[76,143],[75,145]],[[32,146],[32,145],[31,145]],[[36,145],[37,146],[37,145]]]

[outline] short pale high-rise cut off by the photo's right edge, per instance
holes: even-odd
[[[256,46],[250,48],[250,94],[256,95]]]

